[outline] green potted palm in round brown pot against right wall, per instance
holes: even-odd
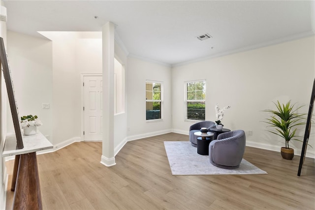
[[[305,124],[306,114],[298,113],[297,110],[303,106],[294,108],[295,104],[291,105],[291,101],[288,101],[285,105],[281,105],[279,101],[274,104],[276,105],[275,110],[263,110],[271,114],[271,116],[266,118],[266,121],[263,122],[269,124],[269,127],[274,128],[273,130],[268,130],[270,133],[284,138],[285,147],[281,147],[281,156],[284,159],[292,160],[294,156],[294,149],[289,147],[289,142],[290,140],[303,142],[298,139],[300,136],[296,135],[296,126]]]

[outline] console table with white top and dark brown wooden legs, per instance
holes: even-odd
[[[42,210],[36,151],[51,149],[53,144],[37,133],[23,136],[23,149],[16,149],[15,135],[5,139],[2,157],[15,155],[11,191],[13,210]]]

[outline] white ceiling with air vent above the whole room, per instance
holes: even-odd
[[[4,0],[10,31],[100,32],[111,21],[129,54],[169,65],[314,35],[314,5],[301,0]],[[196,38],[204,33],[213,38]]]

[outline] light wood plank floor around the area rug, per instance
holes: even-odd
[[[244,158],[268,175],[172,175],[165,134],[126,143],[116,165],[100,164],[101,142],[76,142],[37,155],[43,208],[48,210],[314,210],[314,159],[246,147]],[[12,173],[13,161],[6,163]],[[11,185],[9,175],[9,187]],[[7,209],[13,193],[7,191]]]

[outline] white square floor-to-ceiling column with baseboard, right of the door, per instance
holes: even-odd
[[[115,165],[114,156],[114,24],[102,27],[103,58],[103,144],[101,163]]]

